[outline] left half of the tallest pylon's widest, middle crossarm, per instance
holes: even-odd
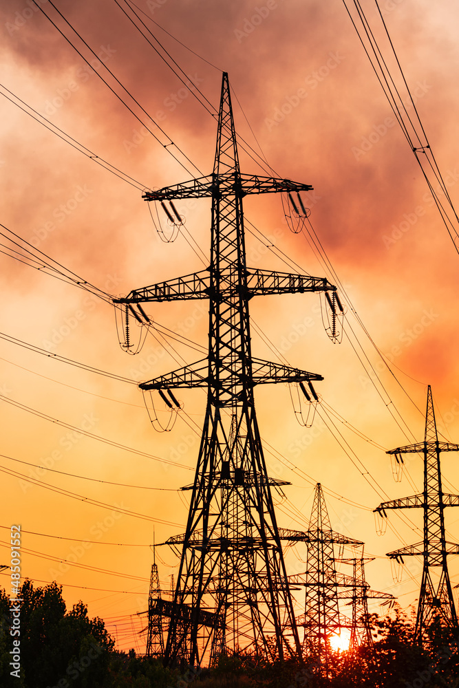
[[[114,303],[149,303],[149,301],[182,301],[209,299],[209,270],[200,270],[184,277],[174,277],[148,287],[134,289],[127,297],[113,299]]]

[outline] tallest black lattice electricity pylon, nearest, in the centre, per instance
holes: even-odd
[[[287,584],[271,486],[255,415],[255,385],[312,383],[322,376],[254,358],[248,301],[266,294],[334,291],[326,279],[246,266],[242,199],[249,193],[299,193],[312,186],[239,169],[228,75],[223,74],[213,173],[149,191],[147,201],[212,200],[211,261],[201,272],[134,290],[118,299],[209,299],[209,353],[197,363],[140,384],[141,389],[204,387],[207,406],[198,466],[170,608],[166,665],[215,663],[220,654],[250,647],[268,658],[301,653]],[[169,212],[169,211],[168,211]],[[173,214],[172,214],[173,213]],[[140,307],[140,320],[145,312]]]

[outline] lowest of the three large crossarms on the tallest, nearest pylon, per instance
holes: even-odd
[[[253,358],[252,385],[266,385],[268,383],[300,383],[311,380],[323,380],[321,375],[308,373],[306,370],[292,368],[281,363],[262,361]],[[180,387],[207,387],[209,385],[209,363],[207,359],[185,365],[171,373],[140,383],[140,389],[178,389]]]

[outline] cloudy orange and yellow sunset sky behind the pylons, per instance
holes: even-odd
[[[209,255],[209,200],[178,202],[189,234],[167,243],[153,226],[142,189],[211,173],[212,112],[224,71],[237,131],[255,151],[252,159],[239,148],[242,171],[266,174],[261,155],[273,175],[314,186],[303,200],[347,304],[343,342],[334,344],[324,331],[318,294],[250,301],[254,356],[277,361],[274,349],[290,365],[324,377],[316,385],[322,402],[312,428],[295,419],[284,385],[255,392],[270,474],[292,483],[286,499],[275,495],[279,526],[307,527],[321,482],[332,526],[365,541],[366,555],[376,558],[366,567],[372,588],[392,592],[403,608],[416,604],[421,562],[407,561],[394,583],[398,572],[385,553],[422,539],[422,514],[389,513],[392,529],[378,537],[372,510],[422,491],[421,459],[412,455],[397,483],[385,451],[423,440],[427,385],[439,430],[459,442],[459,255],[344,4],[138,0],[155,50],[129,20],[124,0],[56,0],[63,16],[50,2],[37,3],[57,28],[32,0],[3,1],[0,24],[0,222],[17,235],[1,230],[0,564],[9,563],[11,524],[21,524],[22,576],[37,585],[61,583],[69,608],[83,599],[90,614],[105,619],[120,649],[143,651],[145,636],[134,631],[146,625],[136,614],[147,609],[153,527],[156,542],[184,532],[190,493],[178,488],[193,481],[205,395],[180,391],[189,415],[179,414],[170,432],[158,433],[135,384],[19,342],[138,383],[202,358],[195,349],[206,346],[207,303],[149,305],[145,310],[161,331],[177,334],[164,338],[153,330],[141,352],[129,356],[118,345],[110,303],[11,256],[23,252],[21,237],[115,296],[201,270],[189,237]],[[368,0],[363,7],[407,102],[376,6]],[[459,8],[447,0],[381,0],[380,8],[458,204]],[[162,56],[175,61],[175,72],[185,72],[186,85]],[[12,94],[41,123],[19,109]],[[45,128],[39,115],[80,150]],[[244,210],[252,232],[246,235],[249,266],[336,283],[306,233],[290,231],[278,195],[245,199]],[[328,414],[334,414],[333,434]],[[162,407],[160,418],[169,418]],[[447,492],[459,493],[458,460],[454,453],[443,456]],[[446,521],[447,539],[456,541],[459,514],[447,510]],[[289,550],[288,571],[303,570],[298,557],[305,556]],[[167,590],[178,559],[160,547],[157,563]],[[449,572],[458,585],[457,557],[449,558]],[[9,590],[6,574],[0,582]],[[381,608],[372,603],[371,610]]]

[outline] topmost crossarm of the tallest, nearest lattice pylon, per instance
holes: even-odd
[[[170,201],[175,198],[220,197],[228,193],[245,196],[249,193],[312,191],[312,188],[310,184],[292,182],[290,179],[240,173],[236,176],[230,172],[200,177],[173,186],[164,186],[157,191],[145,191],[142,198],[145,201]]]

